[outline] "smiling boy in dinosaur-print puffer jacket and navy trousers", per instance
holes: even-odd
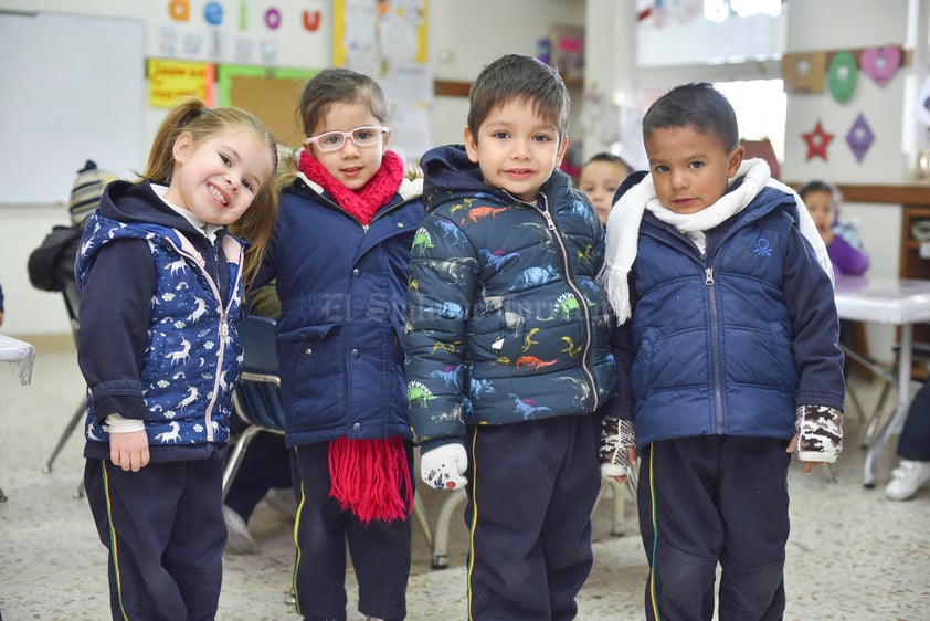
[[[616,366],[604,230],[556,170],[568,117],[559,74],[506,55],[472,86],[465,146],[421,160],[406,390],[423,481],[467,491],[468,619],[573,619],[592,565]]]

